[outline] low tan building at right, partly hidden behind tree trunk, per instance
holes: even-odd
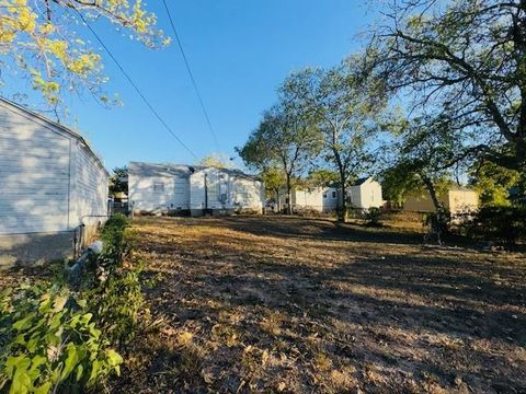
[[[477,192],[467,188],[447,190],[438,200],[451,213],[476,211],[479,208],[479,195]],[[403,202],[403,209],[418,212],[434,212],[435,206],[428,194],[415,197],[408,196]]]

